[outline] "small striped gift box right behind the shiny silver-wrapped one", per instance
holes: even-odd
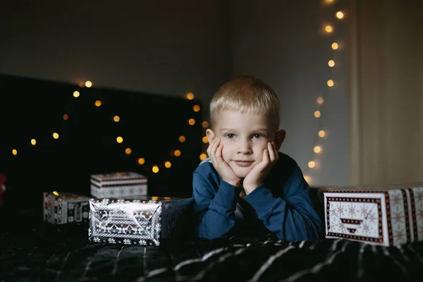
[[[140,173],[116,172],[93,174],[91,195],[98,198],[147,195],[147,177]]]

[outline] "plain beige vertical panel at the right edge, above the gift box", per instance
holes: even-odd
[[[421,4],[355,0],[351,7],[350,167],[355,185],[423,183]]]

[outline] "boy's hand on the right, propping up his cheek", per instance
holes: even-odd
[[[274,142],[267,142],[267,149],[263,151],[262,161],[256,164],[244,178],[243,188],[247,195],[263,183],[264,178],[269,174],[269,171],[276,164],[278,158],[278,151]]]

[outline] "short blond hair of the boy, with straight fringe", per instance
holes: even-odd
[[[219,87],[210,102],[212,127],[219,111],[240,111],[268,116],[275,132],[279,128],[280,106],[274,90],[252,75],[238,75]]]

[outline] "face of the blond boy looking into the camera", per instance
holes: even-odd
[[[245,178],[262,161],[267,142],[274,140],[275,132],[266,116],[220,111],[213,130],[207,130],[207,137],[209,141],[214,137],[220,138],[223,160],[231,166],[236,176]]]

